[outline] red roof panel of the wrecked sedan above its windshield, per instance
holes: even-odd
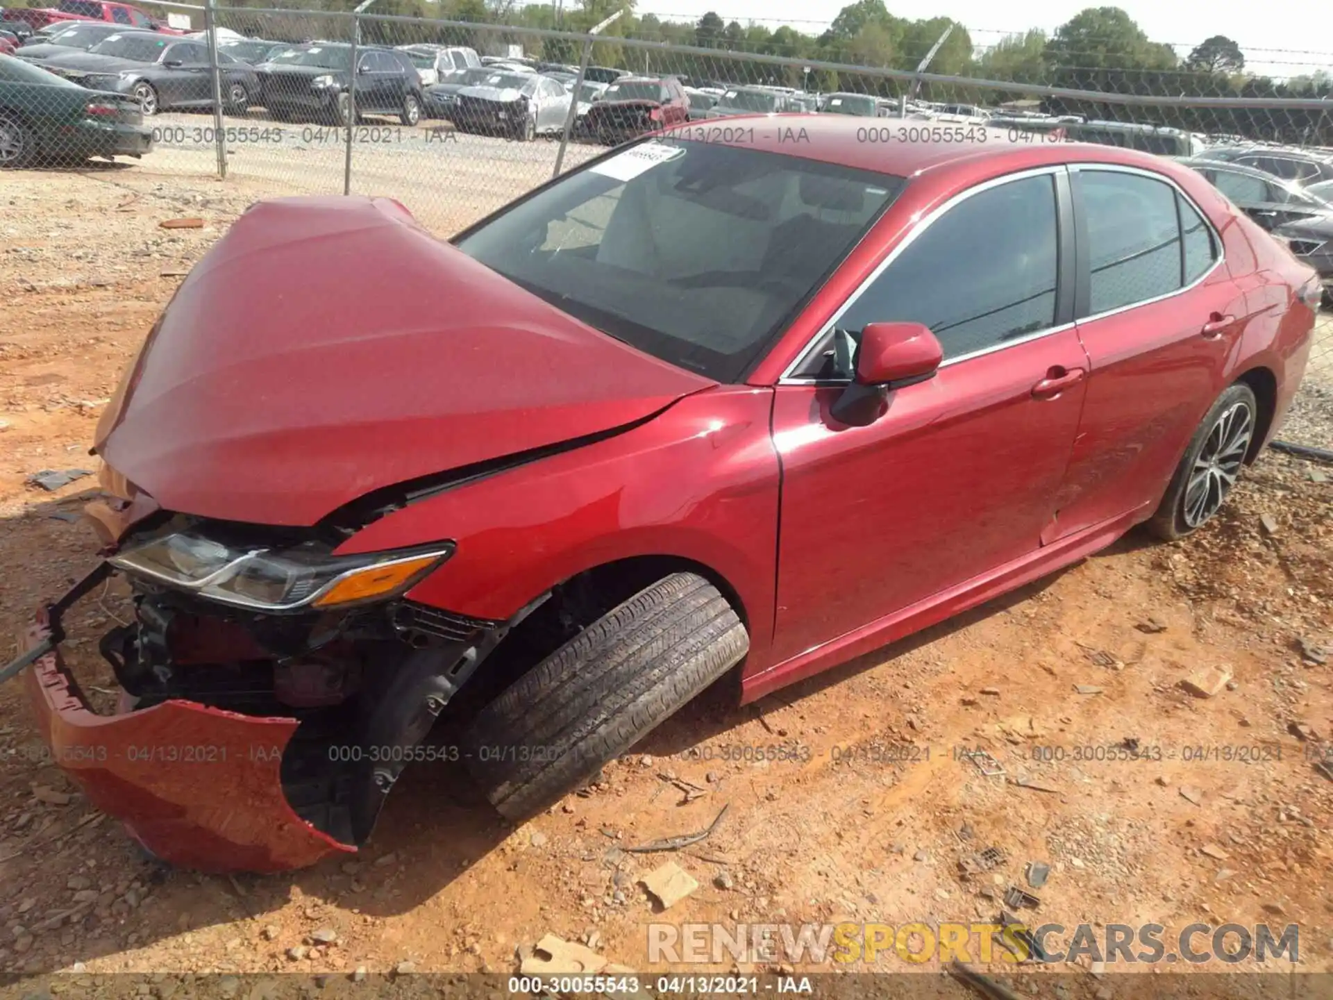
[[[1008,131],[982,125],[966,127],[973,137],[961,143],[884,144],[865,141],[865,121],[845,115],[740,115],[732,121],[753,121],[754,128],[738,129],[734,137],[722,133],[720,140],[709,141],[901,177],[954,167],[994,176],[1057,163],[1108,163],[1177,173],[1166,157],[1137,149],[1097,143],[1010,141]],[[985,139],[980,137],[982,133]],[[688,135],[681,137],[688,140]],[[1200,181],[1206,184],[1202,177]]]

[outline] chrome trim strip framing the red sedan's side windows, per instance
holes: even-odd
[[[889,252],[889,256],[886,256],[882,261],[880,261],[880,264],[874,268],[874,271],[872,271],[865,277],[865,280],[861,281],[861,284],[857,285],[856,289],[846,297],[842,305],[838,307],[837,312],[834,312],[829,317],[829,320],[818,329],[818,332],[816,332],[814,336],[810,337],[809,343],[806,343],[805,347],[801,348],[801,352],[796,356],[796,359],[789,365],[786,365],[786,368],[782,371],[782,375],[778,376],[777,384],[778,385],[846,385],[850,381],[849,379],[810,379],[810,377],[794,376],[792,375],[792,372],[800,368],[805,363],[805,360],[809,357],[810,352],[816,348],[816,345],[825,336],[828,336],[829,331],[837,325],[837,321],[842,317],[842,315],[849,308],[852,308],[852,305],[854,305],[856,301],[865,293],[865,289],[869,288],[872,284],[874,284],[874,281],[878,280],[880,275],[882,275],[893,264],[893,261],[898,257],[898,255],[902,251],[905,251],[909,245],[912,245],[912,243],[917,239],[917,236],[925,232],[925,229],[932,223],[934,223],[936,219],[942,216],[954,205],[961,204],[962,201],[968,200],[973,195],[977,195],[982,191],[989,191],[990,188],[1000,187],[1001,184],[1008,184],[1016,180],[1024,180],[1026,177],[1038,177],[1044,173],[1050,173],[1050,175],[1060,173],[1061,171],[1068,171],[1070,175],[1077,173],[1080,171],[1114,171],[1120,173],[1137,173],[1142,177],[1148,177],[1149,180],[1157,180],[1164,184],[1169,184],[1176,191],[1176,193],[1178,193],[1182,199],[1185,199],[1185,203],[1198,213],[1198,217],[1204,220],[1204,225],[1206,225],[1208,231],[1212,233],[1213,245],[1217,248],[1217,256],[1213,259],[1213,265],[1208,268],[1197,279],[1194,279],[1194,281],[1192,281],[1190,284],[1166,292],[1165,295],[1160,295],[1153,299],[1144,299],[1142,301],[1130,303],[1129,305],[1120,305],[1106,312],[1100,312],[1090,316],[1080,316],[1076,317],[1072,323],[1046,327],[1045,329],[1038,329],[1025,336],[1016,337],[1013,340],[1006,340],[1001,344],[993,344],[992,347],[982,348],[980,351],[972,351],[966,355],[958,355],[957,357],[946,359],[940,365],[940,368],[948,368],[961,361],[970,361],[974,357],[984,357],[985,355],[993,355],[997,351],[1004,351],[1010,347],[1017,347],[1018,344],[1026,344],[1032,340],[1037,340],[1038,337],[1050,336],[1053,333],[1062,333],[1068,329],[1076,328],[1080,323],[1090,323],[1093,320],[1105,319],[1106,316],[1114,316],[1116,313],[1125,312],[1126,309],[1137,309],[1141,305],[1152,305],[1153,303],[1170,299],[1172,296],[1182,295],[1184,292],[1188,292],[1192,288],[1200,285],[1202,281],[1205,281],[1208,276],[1212,275],[1226,259],[1226,247],[1222,244],[1221,233],[1217,232],[1217,227],[1213,225],[1213,220],[1208,217],[1208,212],[1200,208],[1198,203],[1189,196],[1189,192],[1181,188],[1180,184],[1174,181],[1174,179],[1168,177],[1165,173],[1157,173],[1156,171],[1144,169],[1141,167],[1128,167],[1118,163],[1058,163],[1058,164],[1048,164],[1045,167],[1036,167],[1028,171],[1018,171],[1017,173],[1005,173],[1001,175],[1000,177],[992,177],[990,180],[982,181],[976,187],[958,192],[948,201],[945,201],[942,205],[936,208],[933,212],[920,219],[916,227],[912,229],[912,232],[909,232],[906,236],[902,237],[898,245]],[[1184,233],[1181,233],[1181,240],[1184,240]]]

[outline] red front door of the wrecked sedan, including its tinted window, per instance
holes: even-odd
[[[982,184],[928,217],[776,389],[781,661],[1038,548],[1086,388],[1069,319],[1064,167]],[[833,420],[852,347],[914,320],[944,348],[869,427]]]

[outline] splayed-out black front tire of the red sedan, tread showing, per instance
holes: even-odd
[[[483,708],[473,779],[505,817],[580,788],[740,663],[749,636],[713,584],[672,573],[612,608]]]

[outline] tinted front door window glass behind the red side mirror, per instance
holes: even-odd
[[[836,325],[924,323],[945,360],[994,348],[1054,325],[1057,256],[1050,175],[986,188],[930,223]]]

